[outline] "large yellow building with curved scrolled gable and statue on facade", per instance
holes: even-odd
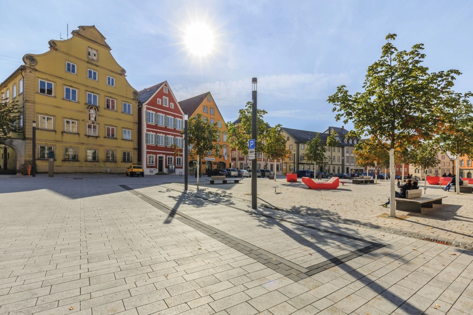
[[[38,172],[47,172],[49,151],[57,173],[125,172],[137,161],[138,92],[95,26],[71,34],[50,40],[44,54],[25,55],[0,84],[0,93],[8,91],[23,108],[21,132],[0,138],[0,145],[15,152],[16,170],[25,172],[35,121]]]

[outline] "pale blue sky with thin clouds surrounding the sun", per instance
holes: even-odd
[[[39,5],[40,4],[40,5]],[[79,25],[95,25],[136,90],[167,80],[178,101],[210,91],[226,122],[251,100],[274,126],[324,131],[343,126],[327,98],[340,85],[362,92],[366,69],[388,33],[409,50],[423,43],[431,71],[458,69],[454,90],[472,90],[472,1],[435,0],[24,0],[3,14],[0,81],[27,54],[48,51]],[[2,11],[19,12],[5,1]],[[185,43],[189,26],[207,26],[213,48],[199,57]],[[70,35],[69,35],[70,36]],[[352,127],[349,123],[345,128]]]

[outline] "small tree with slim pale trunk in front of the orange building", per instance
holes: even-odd
[[[214,157],[221,157],[220,147],[221,145],[215,143],[218,140],[218,127],[217,123],[210,124],[208,119],[203,121],[201,114],[196,114],[190,118],[187,125],[187,138],[188,144],[191,145],[189,156],[197,156],[197,185],[199,185],[199,167],[201,163],[201,157],[206,156],[207,152],[214,152]],[[184,130],[181,131],[181,135],[184,134]],[[188,145],[186,143],[186,145]],[[186,167],[188,167],[186,165]]]

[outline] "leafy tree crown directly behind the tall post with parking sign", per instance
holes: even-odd
[[[268,124],[265,123],[263,116],[268,114],[264,109],[257,111],[257,138],[256,151],[264,152],[265,138],[268,131]],[[231,122],[227,123],[228,138],[227,141],[232,148],[236,148],[239,152],[248,156],[248,141],[251,139],[251,117],[252,117],[252,103],[247,102],[245,108],[238,111],[238,119],[240,122],[234,125]]]

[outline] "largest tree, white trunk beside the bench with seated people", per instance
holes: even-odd
[[[458,70],[429,72],[422,66],[423,44],[410,51],[398,51],[392,41],[396,34],[386,36],[379,60],[367,70],[363,93],[349,95],[345,86],[337,88],[328,102],[337,111],[336,120],[353,122],[359,134],[372,136],[378,144],[387,144],[391,170],[391,200],[395,200],[394,150],[399,144],[416,144],[430,139],[439,126],[436,108],[442,95],[453,86]],[[390,216],[396,217],[395,202]]]

